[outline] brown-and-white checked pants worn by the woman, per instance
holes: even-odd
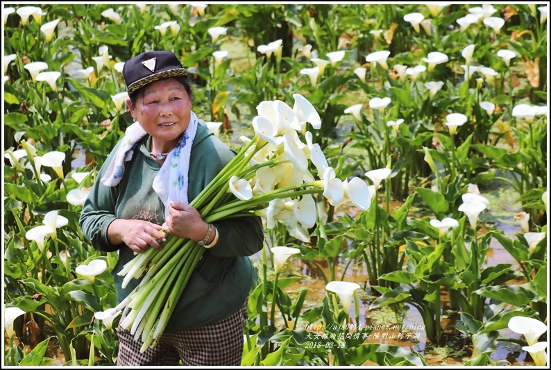
[[[162,334],[154,348],[139,353],[142,339],[137,341],[130,330],[119,326],[119,366],[240,366],[243,355],[243,328],[247,318],[247,301],[226,319],[178,333]],[[124,318],[121,318],[123,321]]]

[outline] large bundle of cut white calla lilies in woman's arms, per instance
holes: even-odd
[[[254,214],[266,219],[267,228],[277,222],[289,228],[312,228],[318,218],[314,195],[320,193],[333,206],[350,201],[359,210],[369,208],[368,185],[361,178],[335,176],[307,131],[307,124],[320,128],[318,112],[302,95],[293,96],[293,108],[283,101],[262,101],[257,106],[253,139],[241,137],[244,146],[239,153],[190,203],[205,222]],[[317,178],[309,170],[314,167]],[[121,326],[135,338],[141,337],[140,351],[160,339],[204,250],[193,240],[169,235],[162,250],[149,249],[119,271],[124,276],[123,287],[143,276],[117,306],[118,311],[126,310]]]

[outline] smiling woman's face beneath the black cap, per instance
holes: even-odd
[[[135,104],[127,101],[132,117],[151,137],[177,141],[189,125],[192,112],[185,87],[175,78],[165,78],[146,85],[139,94]]]

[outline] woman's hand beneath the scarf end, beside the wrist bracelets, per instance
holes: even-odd
[[[169,216],[164,220],[162,230],[167,234],[197,242],[207,235],[208,224],[191,205],[180,201],[171,201]]]

